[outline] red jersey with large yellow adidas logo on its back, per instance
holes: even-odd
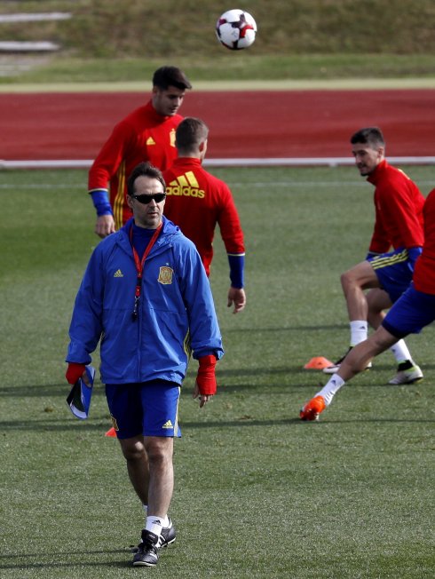
[[[200,159],[179,157],[167,171],[164,215],[194,242],[210,275],[216,224],[229,256],[243,256],[243,232],[230,188],[202,168]]]

